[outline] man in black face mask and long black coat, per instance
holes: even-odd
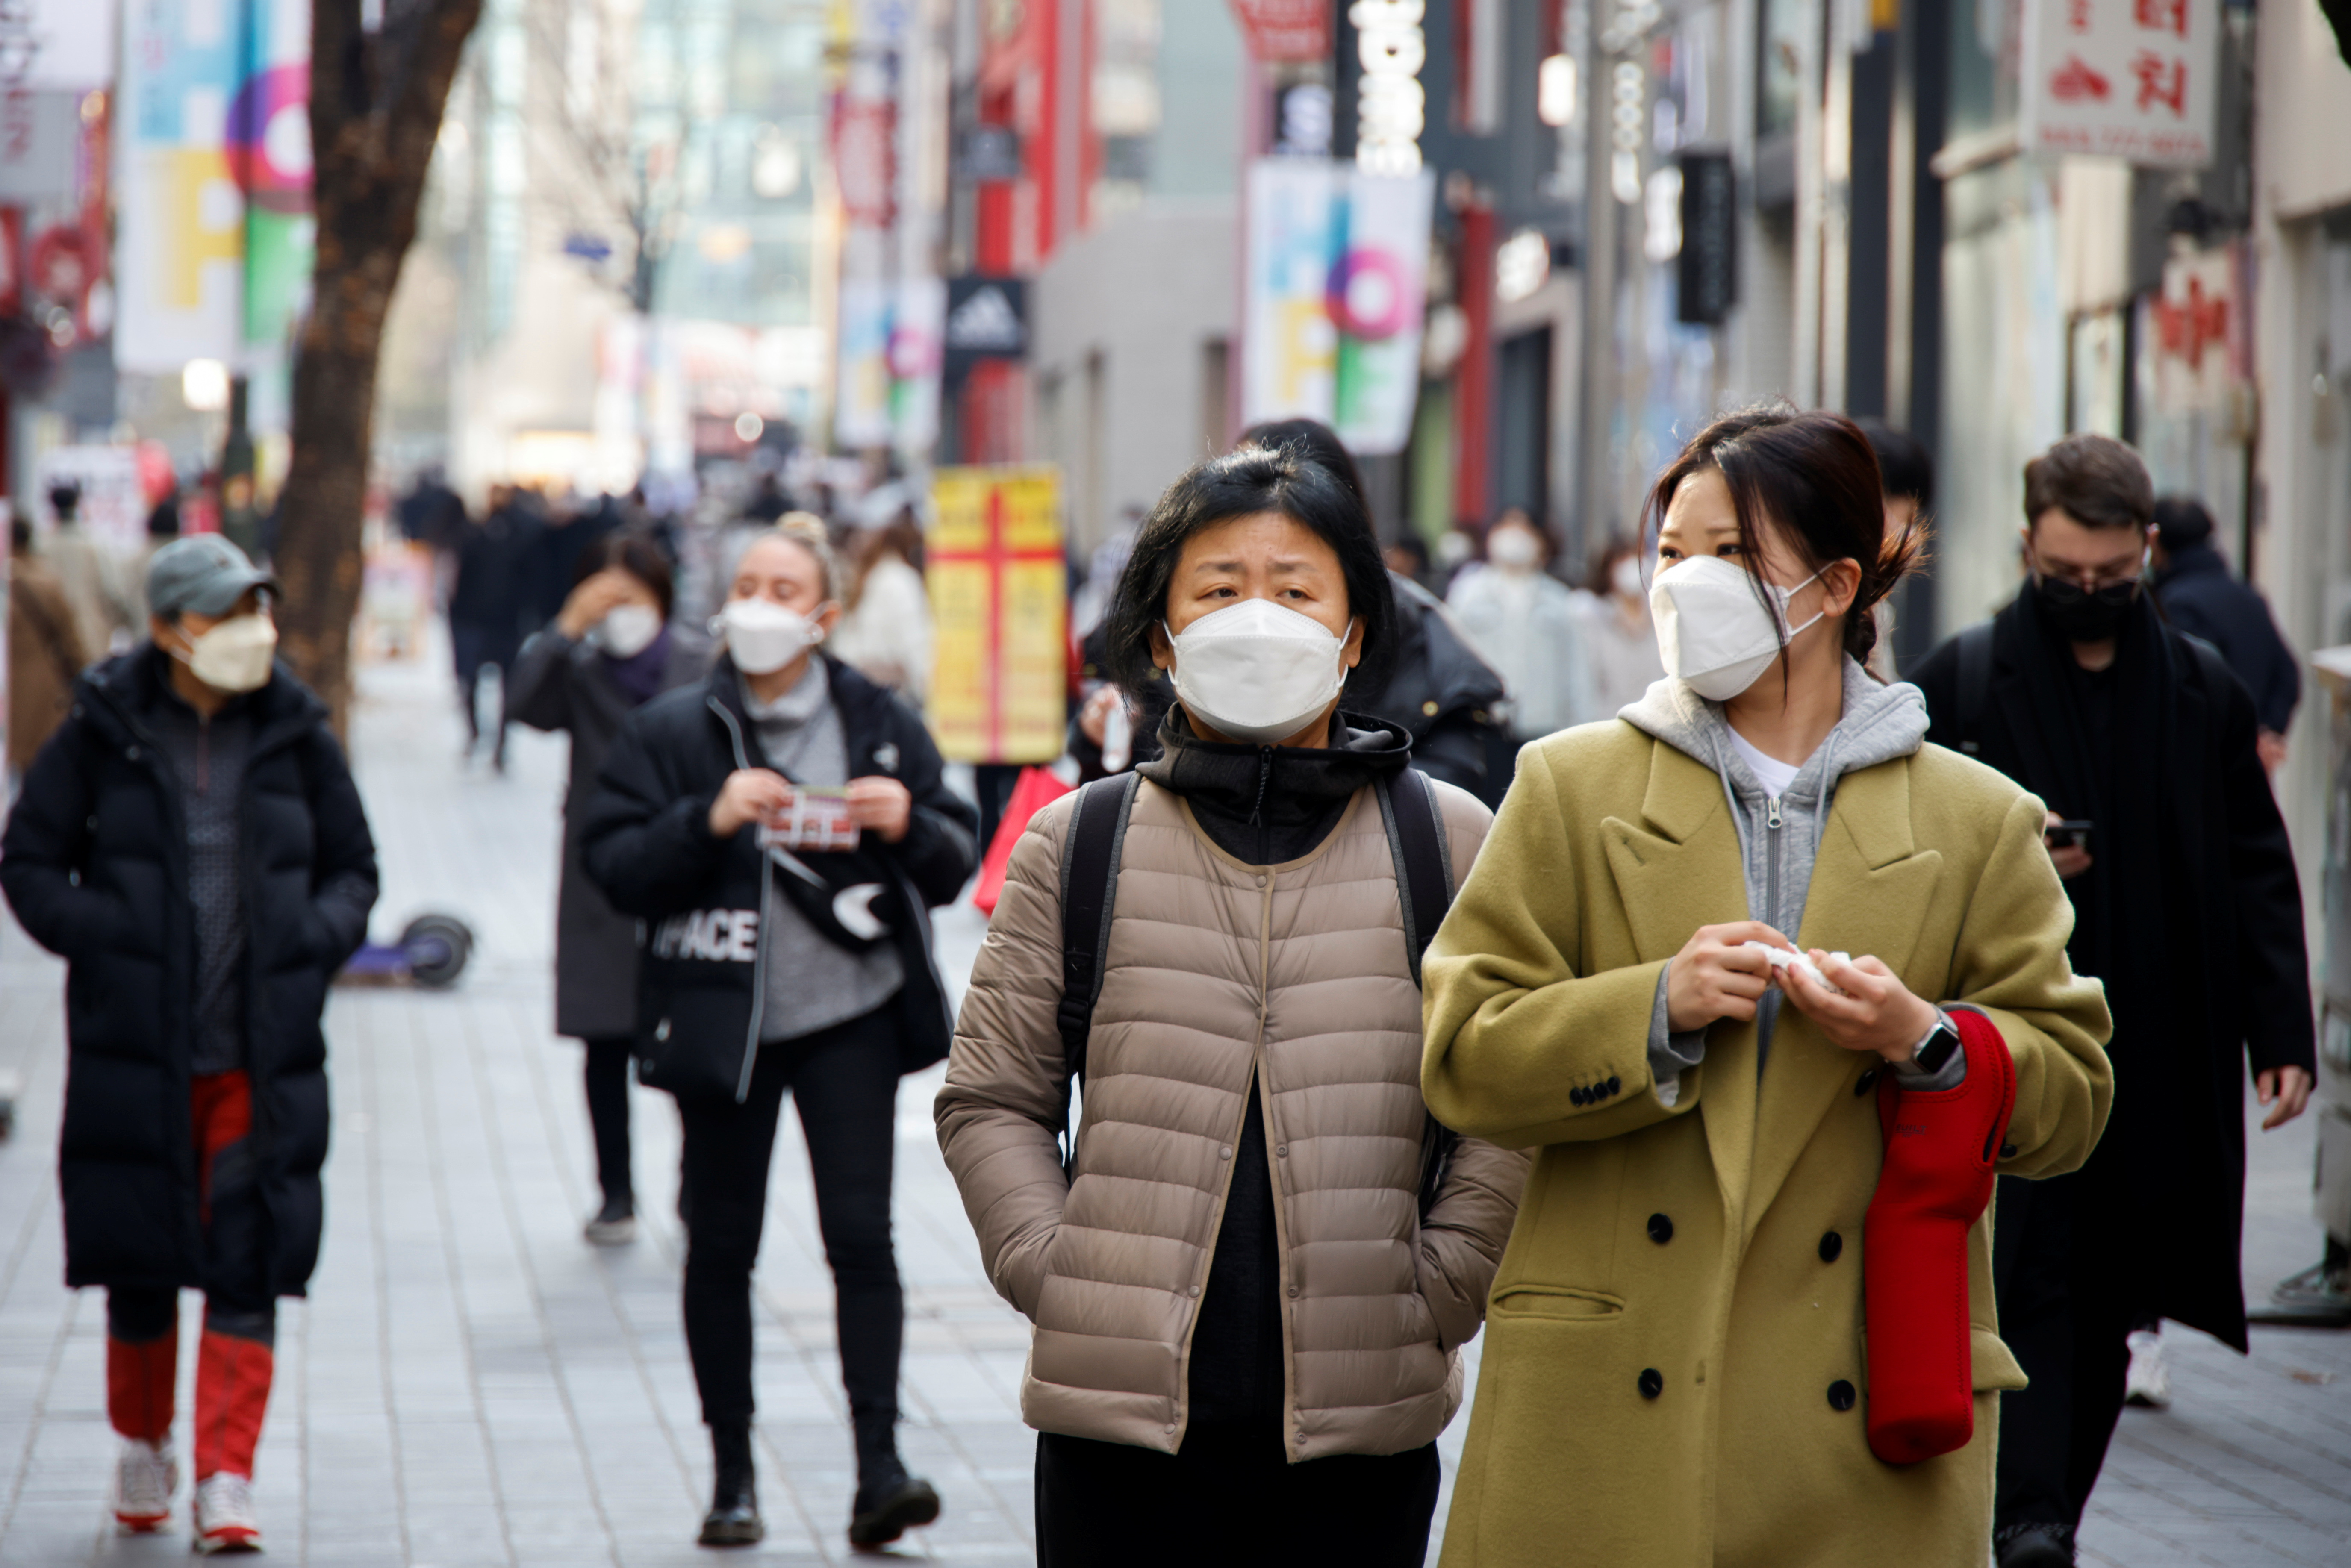
[[[2076,1175],[1998,1192],[2001,1335],[2031,1378],[2001,1406],[2001,1568],[2074,1561],[2132,1326],[2168,1316],[2245,1349],[2248,1063],[2264,1131],[2311,1093],[2302,893],[2252,698],[2163,623],[2151,531],[2139,456],[2064,437],[2024,465],[2022,592],[1914,677],[1928,741],[2050,809],[2067,952],[2114,1009],[2104,1143]]]

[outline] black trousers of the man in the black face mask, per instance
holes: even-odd
[[[2001,1394],[1994,1526],[2081,1528],[2123,1413],[2128,1335],[2144,1316],[2099,1255],[2095,1225],[2076,1234],[2078,1178],[2001,1178],[1994,1284],[2001,1338],[2031,1387]]]

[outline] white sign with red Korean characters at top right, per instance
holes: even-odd
[[[2020,139],[2151,169],[2212,162],[2222,0],[2024,0]]]

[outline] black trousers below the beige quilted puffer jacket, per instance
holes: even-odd
[[[1194,1422],[1183,1453],[1037,1436],[1037,1568],[1420,1568],[1436,1443],[1291,1465],[1279,1427]]]

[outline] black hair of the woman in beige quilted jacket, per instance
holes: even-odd
[[[1364,691],[1385,686],[1396,656],[1396,597],[1387,585],[1387,562],[1364,517],[1364,498],[1298,447],[1241,447],[1194,463],[1166,487],[1136,529],[1136,550],[1103,618],[1110,679],[1136,693],[1159,679],[1152,630],[1168,614],[1168,583],[1185,541],[1251,512],[1281,512],[1331,545],[1347,583],[1347,614],[1364,625],[1361,661],[1347,684]]]

